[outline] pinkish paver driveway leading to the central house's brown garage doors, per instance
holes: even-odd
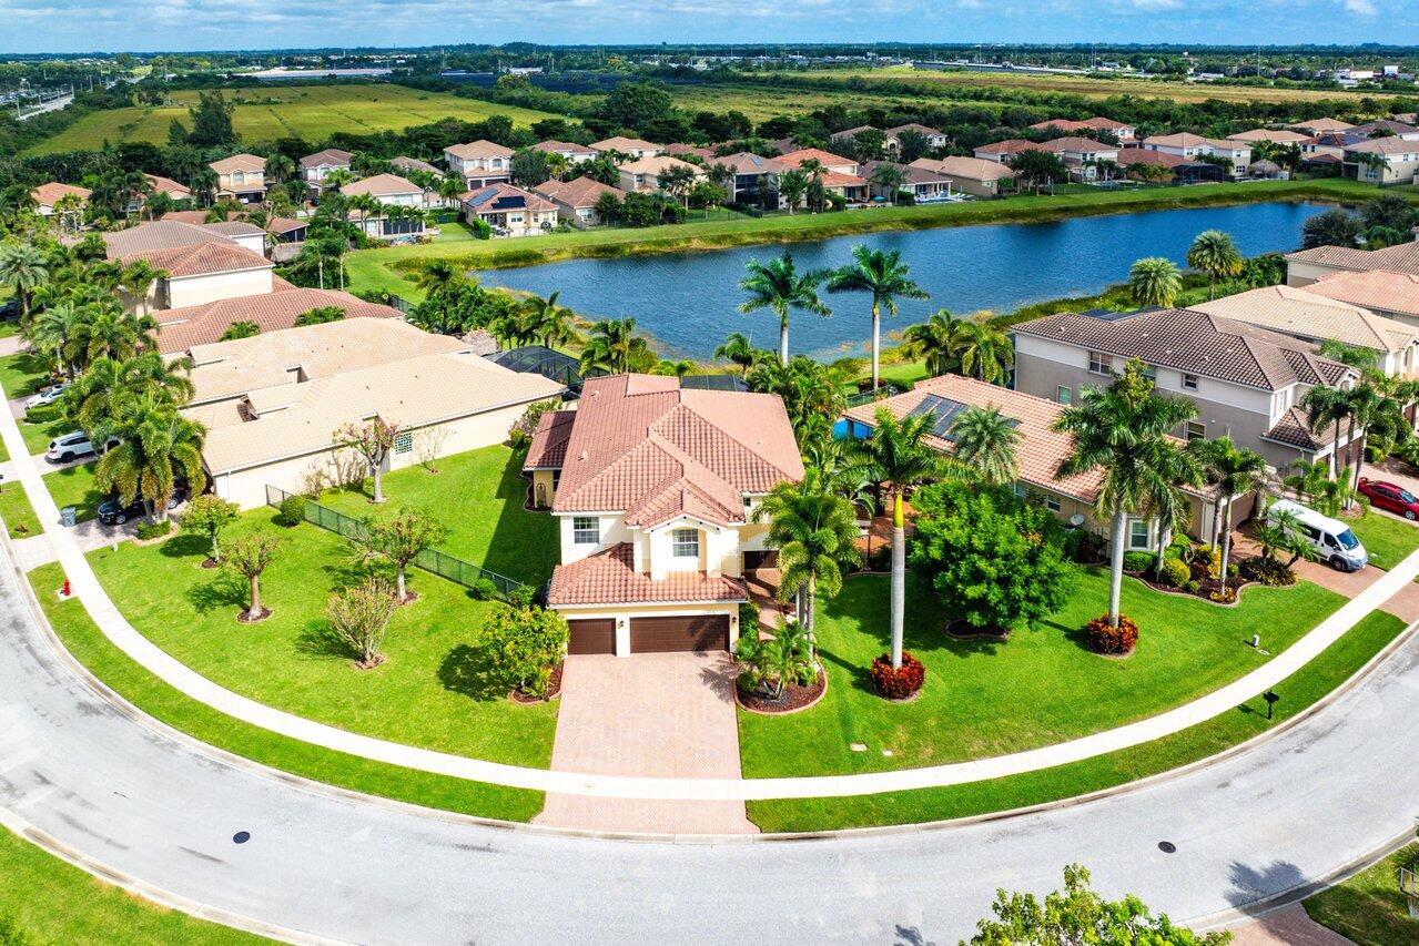
[[[575,655],[562,674],[552,769],[738,779],[734,661],[724,652]],[[538,824],[593,831],[753,834],[742,801],[548,794]]]

